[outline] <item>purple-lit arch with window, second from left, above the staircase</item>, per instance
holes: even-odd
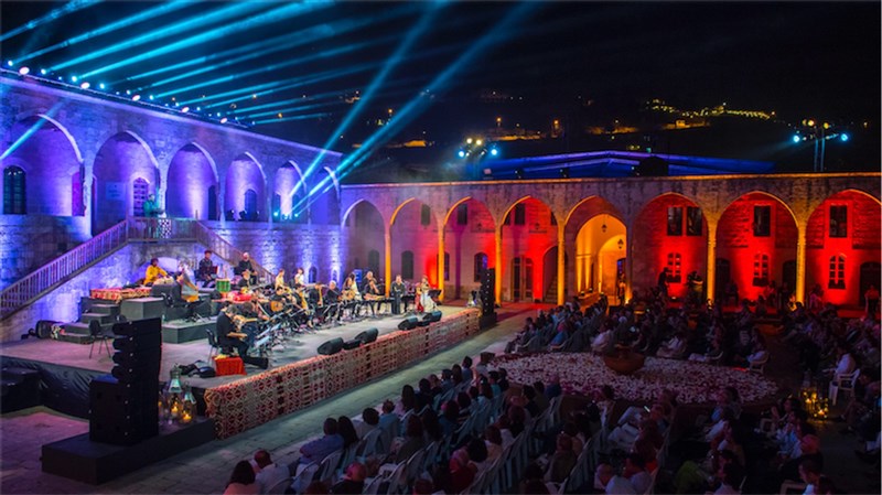
[[[142,179],[148,193],[160,189],[157,158],[143,139],[132,131],[118,132],[101,144],[93,165],[93,234],[119,223],[135,212],[132,183]]]

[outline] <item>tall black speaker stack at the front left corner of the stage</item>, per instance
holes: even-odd
[[[159,434],[162,322],[114,325],[114,369],[89,384],[89,439],[131,445]]]

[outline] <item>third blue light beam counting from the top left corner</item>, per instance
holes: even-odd
[[[236,2],[232,3],[225,8],[218,9],[214,12],[207,14],[198,14],[193,15],[190,19],[175,22],[174,24],[168,25],[165,28],[141,34],[140,36],[132,37],[130,40],[123,41],[121,43],[108,46],[104,50],[97,50],[95,52],[78,56],[76,58],[72,58],[67,62],[63,62],[54,67],[53,71],[58,72],[68,67],[73,67],[75,65],[79,65],[86,62],[92,62],[95,60],[100,60],[106,57],[110,54],[121,52],[123,50],[133,49],[136,46],[140,46],[146,43],[155,43],[165,37],[180,34],[182,32],[187,32],[195,29],[201,29],[204,25],[208,25],[215,22],[224,22],[232,19],[240,19],[243,17],[249,15],[251,12],[263,9],[263,2]]]

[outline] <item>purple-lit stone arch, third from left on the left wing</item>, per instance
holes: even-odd
[[[171,217],[217,219],[217,186],[212,155],[195,142],[181,147],[169,162],[166,214]]]

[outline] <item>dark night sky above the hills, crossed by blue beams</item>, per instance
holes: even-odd
[[[286,2],[241,2],[241,11],[235,11],[235,4],[211,1],[22,60],[170,3],[96,2],[9,36],[64,4],[4,0],[4,63],[13,61],[14,69],[63,67],[55,76],[68,80],[105,68],[87,78],[93,87],[101,82],[109,90],[155,93],[163,95],[157,99],[163,104],[173,96],[194,107],[205,95],[208,103],[224,103],[212,111],[243,120],[269,122],[277,111],[300,116],[284,125],[256,126],[290,139],[297,139],[291,133],[298,126],[333,129],[353,108],[342,95],[365,92],[390,61],[397,63],[386,65],[380,89],[359,119],[383,115],[387,107],[397,112],[422,95],[428,106],[409,116],[418,122],[433,105],[485,89],[551,109],[585,100],[616,105],[659,97],[680,108],[725,101],[730,108],[775,110],[793,121],[878,121],[880,110],[880,2],[337,2],[284,17],[272,11]],[[234,11],[196,24],[223,9]],[[273,22],[243,24],[261,14]],[[69,64],[186,20],[194,22],[170,30],[169,36]],[[426,29],[415,33],[421,22]],[[209,39],[190,43],[200,34]],[[401,50],[406,40],[410,44]],[[261,41],[263,46],[249,49]],[[173,43],[176,50],[128,63]],[[291,46],[273,50],[286,43]],[[149,74],[185,61],[194,62]],[[108,69],[114,63],[121,66]],[[204,72],[157,86],[197,69]],[[233,77],[185,88],[224,76]],[[267,84],[276,88],[260,92]],[[228,92],[232,98],[212,100]],[[257,105],[260,110],[249,110]],[[258,112],[268,115],[254,117]],[[455,127],[455,117],[449,118],[454,121],[444,123]]]

